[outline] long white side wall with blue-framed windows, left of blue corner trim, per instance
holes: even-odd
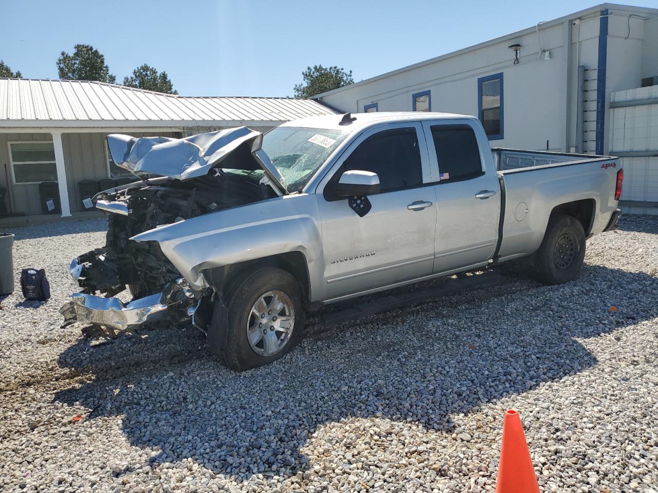
[[[478,114],[478,78],[503,73],[504,138],[491,141],[496,147],[527,149],[565,148],[567,102],[561,87],[566,80],[565,29],[563,24],[540,30],[540,56],[535,32],[506,39],[431,64],[405,70],[371,83],[356,85],[322,98],[340,110],[363,112],[368,103],[379,111],[412,109],[413,93],[432,91],[432,111]],[[595,35],[597,32],[595,33]],[[520,43],[520,62],[507,47]]]

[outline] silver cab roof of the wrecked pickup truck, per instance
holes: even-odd
[[[282,127],[326,128],[354,131],[384,122],[417,122],[418,120],[449,120],[454,118],[477,120],[476,117],[458,113],[420,111],[382,111],[374,113],[353,113],[351,124],[341,124],[343,114],[309,116],[282,124]]]

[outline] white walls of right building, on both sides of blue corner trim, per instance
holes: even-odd
[[[362,112],[370,103],[379,111],[411,110],[411,95],[432,91],[432,111],[478,114],[478,78],[502,72],[504,75],[504,138],[492,140],[492,147],[519,147],[569,151],[576,146],[578,113],[585,112],[584,151],[595,152],[597,79],[599,78],[599,26],[601,10],[609,9],[607,74],[605,80],[605,129],[603,152],[609,149],[610,93],[639,87],[646,70],[656,65],[658,11],[603,4],[540,24],[515,35],[476,45],[438,59],[365,80],[320,98],[339,110]],[[629,17],[630,16],[630,17]],[[644,20],[651,18],[653,20]],[[580,19],[579,24],[574,20]],[[647,40],[645,42],[645,39]],[[520,63],[513,64],[513,51],[519,43]],[[542,50],[550,51],[550,60]],[[647,61],[648,60],[648,61]],[[652,65],[653,64],[653,65]],[[578,101],[578,65],[587,69],[584,99]],[[653,73],[653,72],[652,72]]]

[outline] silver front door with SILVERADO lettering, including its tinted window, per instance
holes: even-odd
[[[380,193],[363,217],[332,185],[347,170],[374,172]],[[422,126],[387,124],[350,145],[316,195],[322,222],[324,300],[432,273],[436,192]]]

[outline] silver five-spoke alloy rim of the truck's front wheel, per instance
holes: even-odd
[[[260,356],[282,351],[295,326],[295,308],[283,291],[267,291],[251,306],[247,317],[249,346]]]

